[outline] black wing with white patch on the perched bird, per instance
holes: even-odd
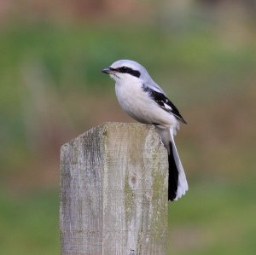
[[[178,112],[177,107],[170,101],[164,94],[152,90],[145,85],[143,85],[143,90],[148,92],[149,96],[166,112],[172,113],[178,120],[187,124],[187,122],[183,119],[183,116]]]

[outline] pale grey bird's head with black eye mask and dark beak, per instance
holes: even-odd
[[[129,60],[115,61],[102,72],[108,73],[116,82],[143,81],[145,78],[150,78],[142,65]]]

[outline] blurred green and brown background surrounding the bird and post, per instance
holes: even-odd
[[[119,59],[141,62],[188,122],[169,253],[256,254],[255,1],[2,0],[0,21],[0,254],[60,252],[61,144],[133,122],[101,73]]]

